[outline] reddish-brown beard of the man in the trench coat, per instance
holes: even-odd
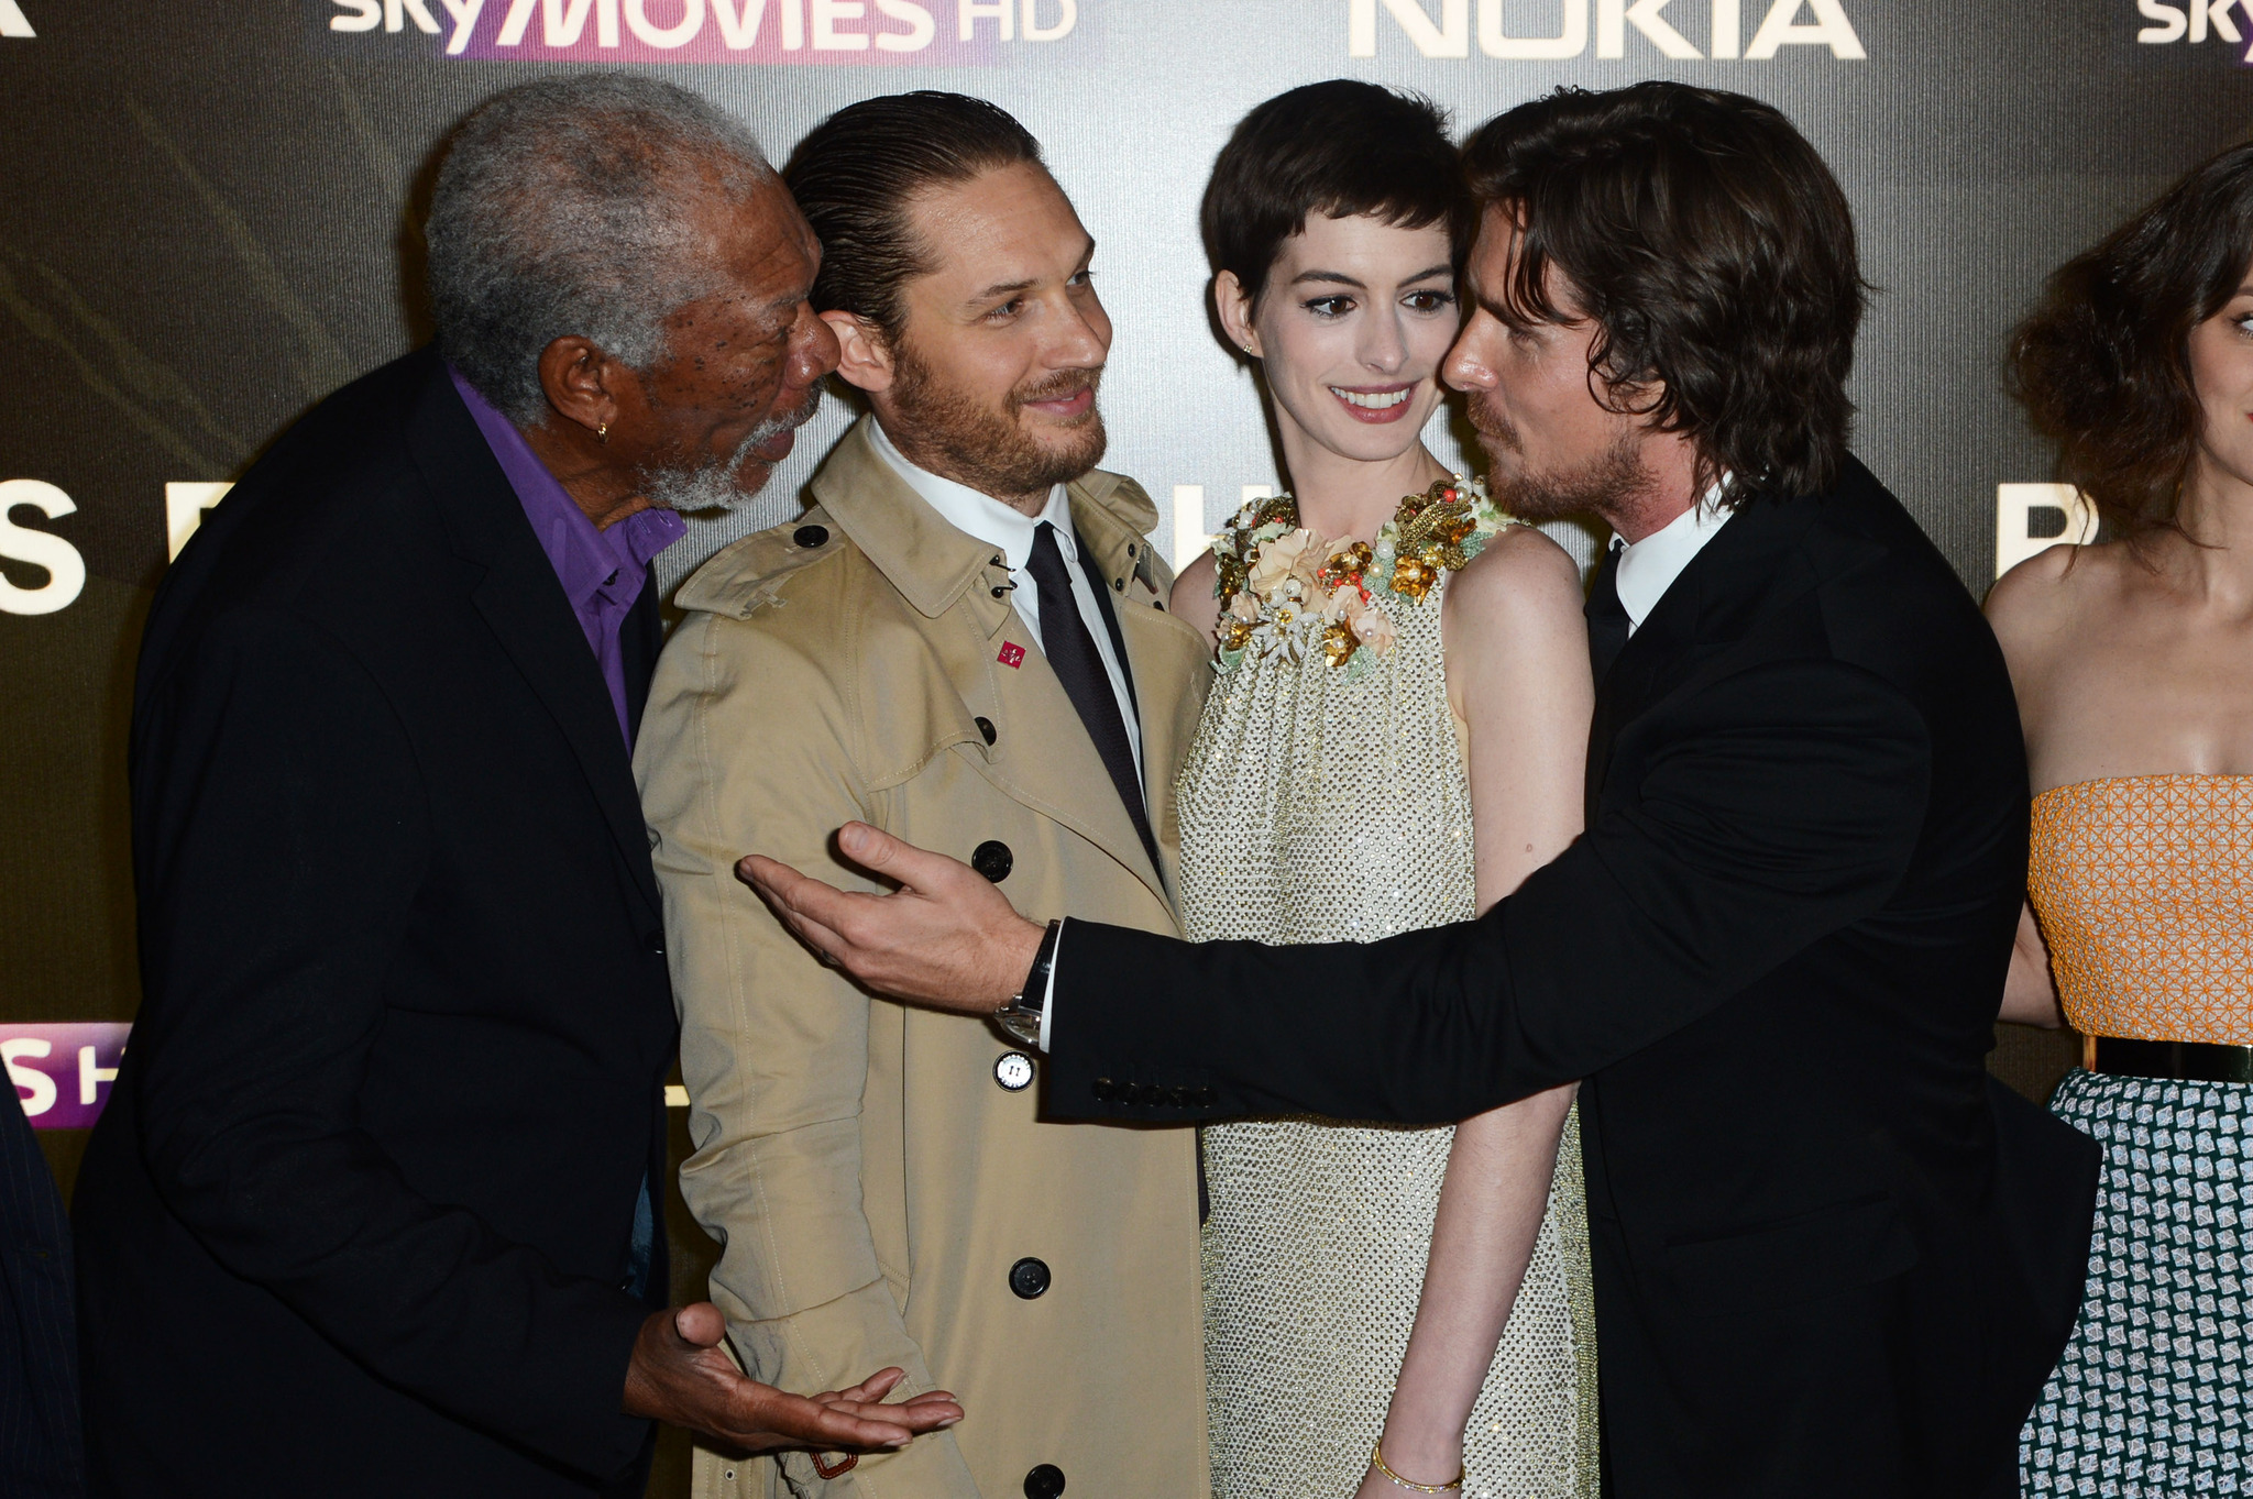
[[[967,484],[982,495],[1036,495],[1095,468],[1108,437],[1097,405],[1057,432],[1068,441],[1048,446],[1025,432],[1021,412],[1032,401],[1054,401],[1102,383],[1102,369],[1066,369],[1012,389],[996,410],[937,376],[899,344],[892,358],[892,410],[903,432],[888,432],[924,468]],[[917,457],[924,455],[924,457]],[[933,461],[924,461],[930,457]]]

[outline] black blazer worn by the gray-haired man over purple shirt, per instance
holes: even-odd
[[[595,655],[433,353],[313,410],[173,565],[131,774],[144,995],[74,1202],[95,1490],[633,1488],[658,887]]]

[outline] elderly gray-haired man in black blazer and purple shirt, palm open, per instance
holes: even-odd
[[[629,770],[678,506],[757,491],[836,344],[753,137],[599,74],[469,117],[437,349],[324,401],[158,592],[144,999],[77,1191],[97,1494],[640,1494],[960,1420],[784,1395],[667,1308],[658,885]]]

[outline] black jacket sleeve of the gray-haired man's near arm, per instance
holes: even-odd
[[[430,1202],[354,1116],[437,858],[383,693],[273,610],[214,621],[160,691],[164,822],[140,855],[164,1004],[133,1038],[158,1191],[376,1377],[584,1472],[624,1467],[647,1434],[620,1400],[649,1308]]]

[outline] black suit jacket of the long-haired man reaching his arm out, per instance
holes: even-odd
[[[1667,590],[1597,686],[1586,835],[1485,918],[1070,923],[1050,1110],[1422,1123],[1582,1078],[1606,1492],[2016,1492],[2095,1191],[1983,1067],[2025,840],[2003,655],[1850,464]]]

